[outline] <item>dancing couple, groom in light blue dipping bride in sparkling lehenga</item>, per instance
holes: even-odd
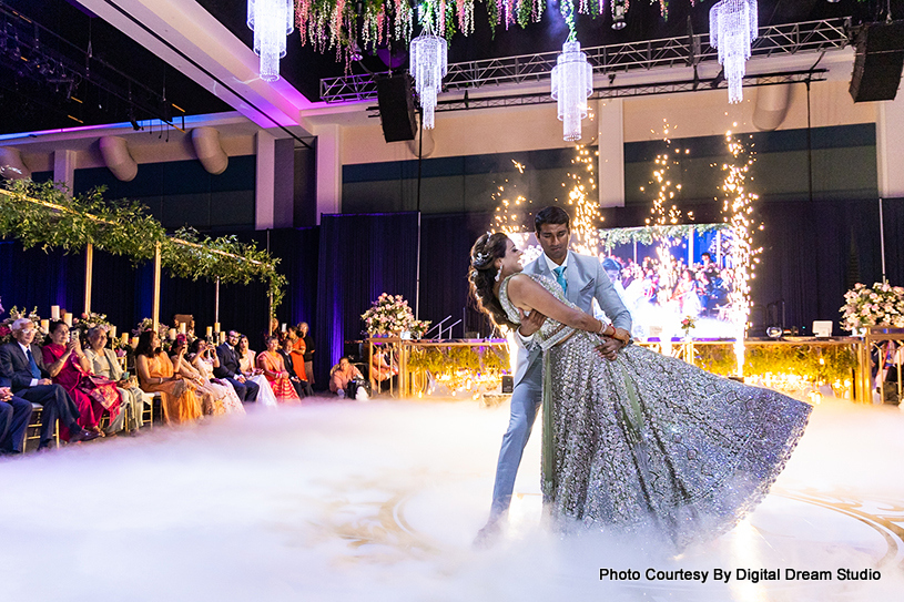
[[[535,227],[544,254],[524,268],[501,233],[470,253],[471,294],[518,344],[476,543],[500,533],[540,405],[542,494],[557,528],[653,535],[676,550],[729,531],[768,493],[811,407],[632,345],[630,314],[599,261],[568,248],[568,214],[546,207]],[[595,298],[609,322],[593,317]]]

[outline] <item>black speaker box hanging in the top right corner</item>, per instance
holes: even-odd
[[[904,65],[904,21],[864,25],[854,38],[854,102],[894,100]]]

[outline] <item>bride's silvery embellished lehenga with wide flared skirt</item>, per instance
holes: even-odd
[[[575,307],[555,280],[534,278]],[[499,299],[517,324],[508,283]],[[537,336],[544,500],[566,530],[658,532],[678,549],[715,538],[763,500],[810,416],[806,404],[634,345],[603,359],[598,335],[550,318]]]

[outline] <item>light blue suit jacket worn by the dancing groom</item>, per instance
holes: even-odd
[[[525,266],[525,274],[546,276],[556,279],[556,275],[549,271],[546,257],[540,255]],[[588,314],[593,314],[593,299],[600,304],[600,308],[606,313],[606,316],[612,320],[616,328],[624,328],[631,331],[631,314],[624,304],[621,302],[616,287],[612,286],[612,280],[606,275],[602,269],[602,264],[596,257],[588,255],[578,255],[571,251],[568,252],[568,267],[565,271],[565,279],[568,282],[568,290],[566,290],[566,298],[577,305]],[[518,345],[518,358],[515,368],[515,386],[524,380],[528,368],[535,361],[540,360],[541,350],[539,345],[528,344],[524,346],[521,337],[515,335],[515,340]],[[542,377],[541,370],[534,370],[539,378]],[[540,382],[534,382],[539,388]]]

